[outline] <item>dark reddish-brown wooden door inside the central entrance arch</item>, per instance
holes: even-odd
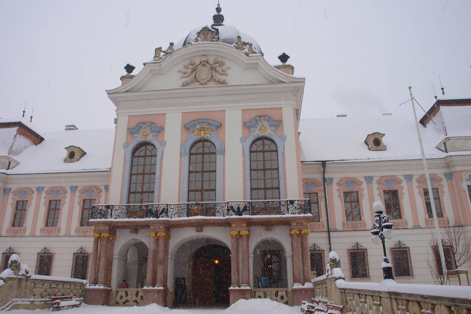
[[[213,306],[214,261],[203,257],[195,258],[192,277],[193,298],[195,299],[196,306]]]

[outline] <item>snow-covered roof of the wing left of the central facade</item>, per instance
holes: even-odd
[[[95,129],[47,132],[41,144],[30,146],[14,156],[15,160],[20,162],[18,166],[0,171],[8,174],[28,174],[109,170],[114,131]],[[65,147],[70,145],[80,147],[86,154],[77,162],[65,163]]]

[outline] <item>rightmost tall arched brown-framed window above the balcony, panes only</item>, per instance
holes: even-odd
[[[257,138],[250,145],[250,180],[252,201],[280,199],[278,150],[267,137]]]

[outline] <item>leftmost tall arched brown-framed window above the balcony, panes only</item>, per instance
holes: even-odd
[[[131,160],[128,204],[146,204],[154,201],[157,149],[142,143],[134,149]]]

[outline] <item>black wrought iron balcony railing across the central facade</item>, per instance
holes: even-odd
[[[91,219],[228,217],[310,214],[309,199],[93,205]]]

